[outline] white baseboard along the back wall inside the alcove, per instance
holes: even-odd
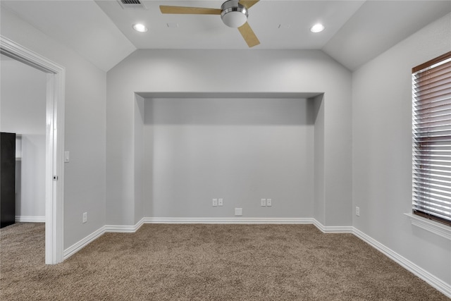
[[[314,219],[310,218],[183,218],[183,217],[146,217],[144,223],[237,223],[237,224],[252,224],[252,223],[313,223]]]

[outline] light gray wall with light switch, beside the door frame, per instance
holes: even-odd
[[[64,247],[105,225],[106,75],[7,9],[1,35],[66,68]],[[82,213],[88,222],[82,223]]]

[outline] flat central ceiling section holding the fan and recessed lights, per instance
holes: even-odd
[[[223,1],[143,1],[147,10],[123,9],[117,1],[97,1],[119,30],[138,49],[247,49],[236,28],[217,15],[168,15],[159,5],[221,8]],[[364,1],[268,1],[249,8],[248,23],[261,42],[255,49],[321,49]],[[269,17],[272,15],[271,17]],[[132,23],[149,31],[140,34]],[[309,28],[327,21],[327,30],[314,35]],[[131,22],[131,24],[130,24]],[[176,23],[178,27],[168,27]],[[279,25],[280,28],[279,28]],[[289,28],[286,28],[290,26]],[[143,36],[145,38],[143,39]]]

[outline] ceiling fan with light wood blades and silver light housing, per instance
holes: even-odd
[[[221,8],[166,6],[161,5],[161,13],[179,13],[192,15],[221,15],[223,23],[228,27],[238,28],[247,46],[254,47],[260,44],[252,28],[247,23],[248,9],[259,0],[227,0]]]

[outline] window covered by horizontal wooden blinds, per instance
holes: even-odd
[[[413,213],[451,226],[451,51],[412,82]]]

